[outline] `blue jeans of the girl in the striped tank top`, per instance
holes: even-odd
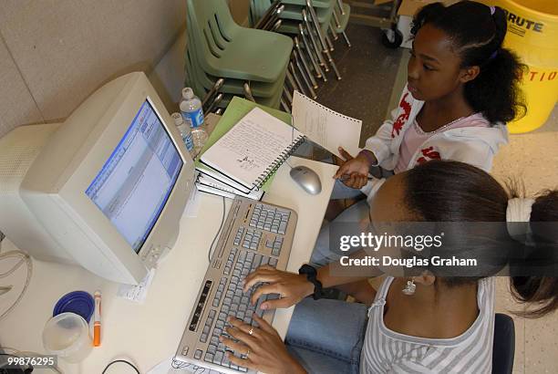
[[[356,374],[366,327],[364,304],[307,297],[294,307],[285,344],[308,373]]]

